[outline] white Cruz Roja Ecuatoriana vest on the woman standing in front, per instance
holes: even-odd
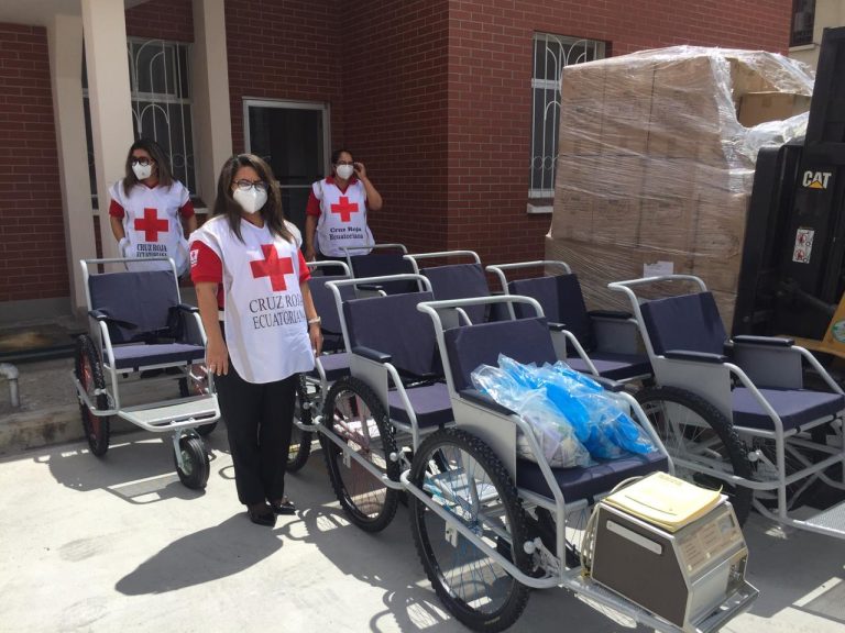
[[[218,215],[191,233],[223,264],[226,344],[248,382],[274,382],[314,369],[299,290],[297,246],[241,220],[241,237]]]

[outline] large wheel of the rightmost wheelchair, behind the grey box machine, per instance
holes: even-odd
[[[726,475],[751,478],[748,451],[731,421],[703,398],[676,387],[644,389],[636,396],[673,459],[700,464]],[[722,488],[744,524],[751,507],[753,490],[707,476],[694,466],[676,463],[676,476],[702,488]]]

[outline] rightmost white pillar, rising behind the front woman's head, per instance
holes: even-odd
[[[220,167],[232,155],[223,0],[194,0],[191,69],[194,154],[197,157],[200,195],[210,209],[215,203]]]

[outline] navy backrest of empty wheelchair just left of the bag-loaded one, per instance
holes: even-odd
[[[432,299],[426,291],[344,301],[350,346],[389,354],[400,374],[442,376],[431,320],[417,310],[418,303]]]

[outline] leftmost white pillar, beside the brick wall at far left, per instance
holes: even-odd
[[[74,312],[79,312],[86,306],[79,259],[97,256],[83,112],[81,18],[53,15],[47,23],[47,43],[70,306]]]

